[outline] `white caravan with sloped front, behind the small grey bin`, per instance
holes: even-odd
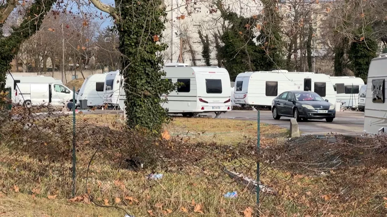
[[[87,100],[87,106],[102,106],[107,75],[108,73],[88,76],[80,87],[77,105],[79,105],[79,100]]]

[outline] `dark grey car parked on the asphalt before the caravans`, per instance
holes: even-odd
[[[324,100],[319,94],[309,91],[288,91],[281,93],[272,101],[273,118],[281,116],[301,119],[325,119],[332,122],[336,117],[335,105]]]

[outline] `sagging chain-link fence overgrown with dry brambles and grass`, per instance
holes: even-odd
[[[68,113],[2,107],[3,193],[67,198],[134,216],[387,215],[383,136],[265,137],[258,149],[257,139],[190,141],[189,132],[159,138],[127,129],[118,115],[98,121],[77,114],[74,137]]]

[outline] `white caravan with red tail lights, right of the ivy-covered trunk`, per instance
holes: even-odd
[[[167,97],[170,114],[195,116],[215,112],[216,115],[231,110],[231,83],[228,71],[216,67],[196,67],[181,63],[165,64],[165,78],[173,83],[183,83]]]

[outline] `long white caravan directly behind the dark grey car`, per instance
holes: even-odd
[[[329,102],[336,102],[336,93],[329,76],[312,72],[286,70],[240,73],[235,79],[234,100],[240,105],[271,107],[280,93],[305,90],[318,93]]]

